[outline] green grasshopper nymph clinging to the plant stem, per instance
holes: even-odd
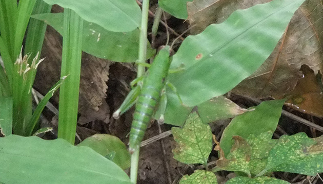
[[[163,121],[163,114],[166,109],[167,100],[166,94],[161,93],[161,91],[163,88],[165,88],[166,85],[165,79],[168,75],[170,66],[169,55],[170,47],[166,45],[156,55],[145,76],[143,76],[142,79],[135,79],[132,82],[133,85],[133,83],[137,83],[138,81],[142,80],[141,89],[139,85],[134,87],[130,91],[129,95],[125,99],[124,103],[120,106],[120,108],[113,113],[113,117],[117,119],[120,113],[128,110],[137,99],[130,130],[130,153],[132,153],[134,149],[142,142],[145,131],[147,129],[147,125],[150,122],[150,119],[152,118],[152,115],[154,113],[154,109],[160,99],[163,100],[159,102],[159,108],[161,108],[160,110],[162,112],[159,121]]]

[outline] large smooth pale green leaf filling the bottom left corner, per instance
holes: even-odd
[[[104,156],[62,139],[0,138],[0,163],[0,180],[7,184],[131,184],[128,175]]]

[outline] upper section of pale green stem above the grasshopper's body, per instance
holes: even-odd
[[[139,53],[137,61],[139,63],[137,67],[137,77],[141,77],[145,74],[145,66],[141,65],[140,63],[146,62],[149,0],[144,0],[142,11],[142,25],[140,27]]]

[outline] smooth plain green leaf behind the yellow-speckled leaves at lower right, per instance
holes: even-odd
[[[245,112],[235,117],[223,132],[220,147],[228,155],[233,145],[232,137],[239,135],[247,139],[249,135],[260,135],[276,130],[284,100],[265,101],[254,107],[253,111]]]

